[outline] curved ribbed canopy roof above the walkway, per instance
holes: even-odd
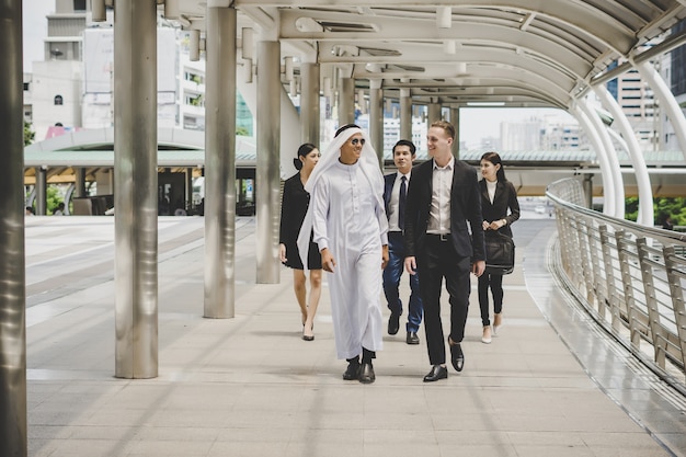
[[[430,0],[431,1],[431,0]],[[665,32],[686,0],[236,0],[239,30],[279,39],[282,56],[322,76],[380,81],[415,103],[569,108],[616,60],[641,61],[684,42]],[[215,0],[222,3],[220,0]],[[206,4],[179,0],[186,28]],[[227,1],[228,3],[228,1]],[[665,39],[666,38],[666,39]],[[609,73],[611,75],[611,73]],[[398,92],[399,93],[399,92]]]

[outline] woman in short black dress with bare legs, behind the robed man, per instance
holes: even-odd
[[[282,263],[293,269],[293,287],[296,293],[300,313],[302,315],[302,340],[315,340],[312,327],[315,315],[321,296],[321,254],[317,244],[310,239],[307,255],[307,270],[310,272],[310,295],[307,299],[305,270],[298,251],[298,233],[302,219],[307,213],[310,194],[305,191],[305,183],[310,178],[312,169],[319,161],[321,153],[315,145],[306,142],[298,148],[298,157],[293,160],[299,171],[284,183],[284,196],[281,207],[281,230],[278,256]]]

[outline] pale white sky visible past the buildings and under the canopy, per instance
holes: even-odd
[[[47,36],[46,14],[55,11],[55,0],[24,0],[24,71],[32,71],[32,62],[43,60],[43,41]],[[479,147],[482,138],[500,137],[501,122],[517,122],[533,116],[542,118],[546,114],[560,113],[562,118],[571,116],[559,110],[540,108],[465,108],[460,113],[460,141],[468,147]]]

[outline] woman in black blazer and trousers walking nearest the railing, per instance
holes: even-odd
[[[498,152],[487,152],[481,156],[481,175],[483,180],[479,182],[479,188],[483,230],[498,230],[512,238],[510,226],[519,218],[519,203],[517,191],[505,179],[503,162]],[[510,214],[507,214],[508,209]],[[479,276],[479,307],[483,324],[481,341],[487,344],[491,342],[489,287],[493,294],[493,334],[498,334],[498,329],[503,324],[503,276],[489,273]]]

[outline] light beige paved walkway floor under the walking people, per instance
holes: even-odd
[[[658,395],[620,350],[598,345],[604,335],[557,292],[544,262],[550,221],[514,228],[518,266],[489,345],[472,287],[461,374],[422,382],[423,331],[419,346],[399,332],[385,336],[376,382],[362,385],[341,378],[325,287],[305,342],[290,271],[254,284],[252,218],[237,219],[226,320],[202,317],[203,219],[160,218],[159,377],[116,379],[113,218],[26,220],[32,457],[686,455],[684,399]]]

